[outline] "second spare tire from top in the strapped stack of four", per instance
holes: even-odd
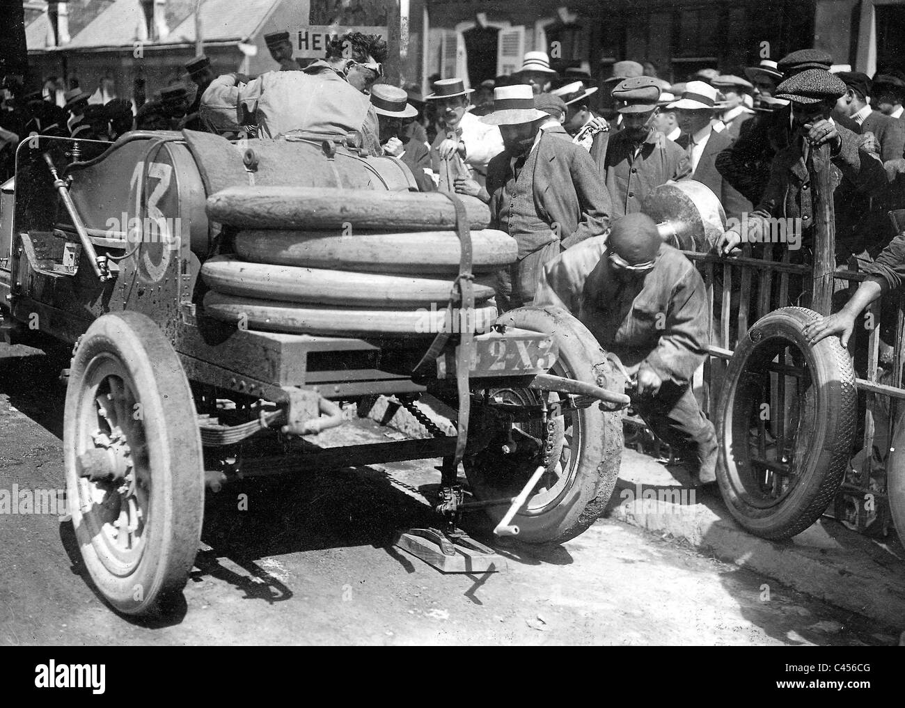
[[[362,273],[459,273],[459,238],[452,231],[375,234],[353,231],[240,231],[235,251],[247,261]],[[509,234],[493,229],[472,232],[475,273],[491,273],[513,263],[518,245]]]

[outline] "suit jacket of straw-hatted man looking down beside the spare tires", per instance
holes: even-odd
[[[541,135],[531,189],[538,217],[558,224],[564,248],[603,234],[610,225],[613,205],[594,166],[582,148],[557,135]],[[512,154],[503,150],[487,166],[491,196],[491,228],[500,228],[503,188],[512,177]],[[520,176],[519,176],[520,177]]]

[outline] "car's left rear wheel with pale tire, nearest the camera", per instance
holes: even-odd
[[[201,437],[176,352],[148,317],[94,321],[72,359],[63,423],[82,558],[119,611],[185,587],[204,516]]]

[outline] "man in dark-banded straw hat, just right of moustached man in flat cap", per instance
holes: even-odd
[[[751,211],[751,203],[723,179],[717,171],[717,156],[732,145],[725,131],[717,132],[710,125],[717,90],[703,81],[690,81],[680,100],[669,105],[676,111],[682,134],[676,143],[691,160],[691,179],[713,192],[723,205],[726,215],[740,218]]]

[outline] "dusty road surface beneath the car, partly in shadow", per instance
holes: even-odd
[[[58,366],[0,345],[0,489],[64,485]],[[324,444],[395,435],[362,420]],[[389,547],[397,528],[432,520],[431,464],[305,470],[208,493],[185,602],[143,621],[120,617],[92,589],[69,522],[0,514],[0,646],[897,641],[862,617],[615,521],[555,548],[504,545],[506,573],[443,576]],[[486,523],[466,525],[488,540]]]

